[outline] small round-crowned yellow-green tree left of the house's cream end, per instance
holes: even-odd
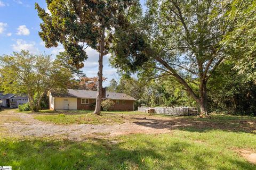
[[[69,69],[49,55],[26,51],[0,57],[1,89],[6,93],[27,94],[32,112],[40,109],[43,96],[51,89],[65,89],[71,78]]]

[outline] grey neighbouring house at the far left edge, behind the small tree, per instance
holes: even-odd
[[[0,104],[2,107],[17,108],[19,105],[28,103],[28,97],[26,95],[14,95],[14,94],[3,94],[0,92]]]

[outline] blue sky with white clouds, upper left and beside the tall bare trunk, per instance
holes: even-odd
[[[145,2],[140,1],[142,4]],[[46,9],[44,0],[0,0],[0,55],[25,49],[36,54],[40,52],[51,54],[54,58],[64,50],[62,46],[44,47],[43,41],[38,36],[41,20],[34,7],[35,2]],[[84,62],[85,66],[82,70],[88,77],[97,76],[98,52],[89,48],[87,54],[89,58]],[[105,56],[103,59],[103,76],[108,78],[103,86],[108,86],[112,78],[118,79],[117,71],[109,66],[108,58],[109,56]]]

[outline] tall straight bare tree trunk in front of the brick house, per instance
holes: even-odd
[[[101,109],[104,44],[105,44],[105,28],[102,29],[102,35],[99,43],[100,54],[99,54],[99,70],[98,70],[98,87],[97,87],[96,106],[94,111],[94,114],[97,114],[97,115],[100,114],[100,109]]]

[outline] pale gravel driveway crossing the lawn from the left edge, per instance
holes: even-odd
[[[15,121],[8,121],[7,117],[15,117]],[[35,120],[33,116],[26,113],[15,113],[13,110],[6,110],[0,114],[0,119],[5,118],[0,128],[5,129],[10,136],[33,136],[33,137],[55,137],[72,140],[85,140],[91,137],[114,137],[116,135],[133,133],[167,133],[171,129],[169,126],[147,126],[146,122],[154,120],[140,120],[138,122],[126,122],[114,125],[94,125],[94,124],[69,124],[57,125],[44,123]],[[146,123],[146,124],[145,124]],[[184,125],[182,125],[184,126]]]

